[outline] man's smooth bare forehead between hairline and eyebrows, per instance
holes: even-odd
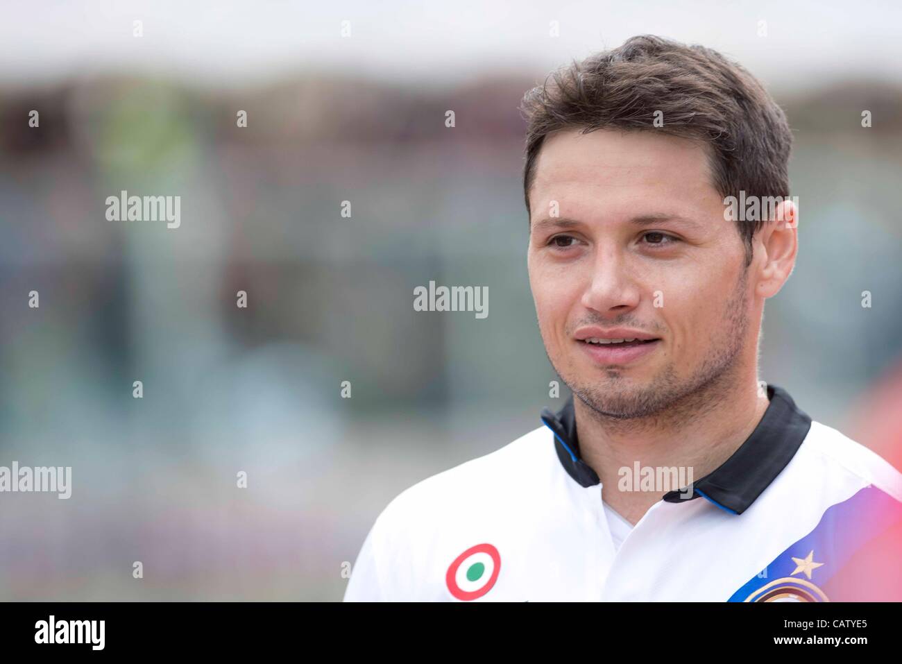
[[[568,216],[637,206],[689,211],[722,205],[712,181],[701,143],[653,130],[566,130],[538,153],[529,202],[542,214],[557,200]]]

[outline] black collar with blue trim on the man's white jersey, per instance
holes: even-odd
[[[811,428],[811,418],[785,390],[768,385],[768,398],[768,410],[750,437],[721,466],[695,480],[692,498],[670,491],[663,500],[680,503],[701,496],[727,512],[745,512],[787,466]],[[542,421],[555,434],[557,458],[567,474],[582,486],[599,484],[598,474],[580,458],[573,396],[557,413],[542,410]]]

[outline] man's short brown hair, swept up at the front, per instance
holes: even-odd
[[[699,140],[709,146],[713,186],[723,198],[739,198],[741,190],[746,197],[789,195],[786,114],[741,65],[703,46],[632,37],[552,72],[526,93],[520,110],[527,121],[528,213],[538,152],[548,134],[562,129],[654,130]],[[663,113],[661,127],[652,124],[655,111]],[[737,224],[748,265],[763,221]]]

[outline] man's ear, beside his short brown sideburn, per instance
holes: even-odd
[[[759,231],[761,252],[755,294],[772,298],[789,279],[798,251],[798,208],[789,198],[778,203],[774,217]]]

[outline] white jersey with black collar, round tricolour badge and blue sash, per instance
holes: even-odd
[[[345,601],[859,599],[842,595],[842,570],[902,524],[902,475],[784,390],[768,394],[732,457],[635,526],[605,509],[579,457],[571,397],[545,426],[394,498]],[[898,568],[873,574],[879,585]]]

